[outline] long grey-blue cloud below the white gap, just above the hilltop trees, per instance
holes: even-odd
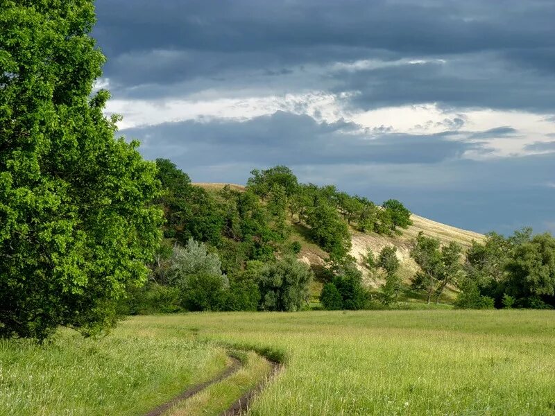
[[[438,135],[359,132],[354,123],[317,123],[310,116],[276,112],[249,121],[182,121],[123,130],[137,137],[149,158],[171,157],[182,166],[225,164],[434,164],[482,145]]]

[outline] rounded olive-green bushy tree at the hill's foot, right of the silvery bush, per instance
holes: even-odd
[[[305,263],[285,257],[259,270],[260,308],[264,311],[298,311],[308,302],[312,272]]]

